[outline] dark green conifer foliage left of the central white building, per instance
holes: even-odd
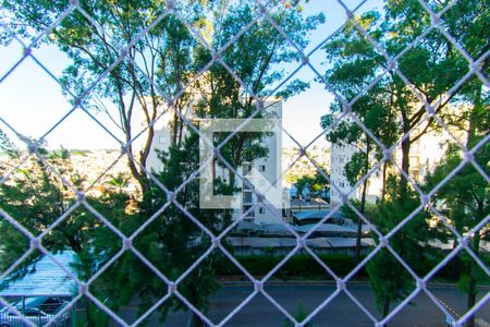
[[[173,190],[188,179],[198,167],[199,137],[192,133],[184,140],[182,148],[170,148],[164,169],[159,174],[159,179],[167,187]],[[231,211],[201,209],[199,207],[198,183],[199,180],[192,180],[177,194],[176,199],[184,205],[191,215],[198,217],[200,223],[209,228],[212,233],[218,234],[230,223]],[[157,193],[154,195],[154,199],[164,204],[166,196],[159,196]],[[154,249],[157,251],[151,251],[150,257],[159,263],[158,267],[161,271],[172,279],[180,277],[210,246],[209,237],[197,228],[181,209],[173,206],[163,213],[163,219],[152,223],[150,233],[145,233],[144,238],[150,238],[151,243],[158,240],[159,249]],[[145,247],[151,246],[151,243],[142,245]],[[215,280],[213,261],[215,254],[210,254],[180,286],[182,293],[194,305],[204,311],[208,310],[209,295],[218,289]],[[175,301],[172,306],[186,310],[180,301]]]

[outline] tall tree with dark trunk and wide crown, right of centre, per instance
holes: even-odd
[[[464,24],[463,22],[474,20],[477,26],[482,27],[486,24],[486,11],[476,14],[470,9],[471,5],[476,8],[481,3],[478,1],[462,2],[462,5],[458,7],[462,11],[451,11],[452,14],[449,17],[444,16],[444,21],[451,26],[458,26]],[[444,4],[438,5],[442,8]],[[440,9],[439,7],[438,9]],[[418,1],[387,1],[384,17],[380,12],[370,11],[355,20],[392,58],[411,45],[430,25],[426,11]],[[416,26],[414,22],[417,22]],[[452,28],[451,32],[453,32],[452,35],[458,35],[456,28]],[[471,28],[471,33],[469,36],[465,33],[461,40],[470,46],[474,58],[479,58],[488,48],[488,40],[481,29]],[[429,117],[419,132],[412,131],[426,118],[425,101],[430,104],[434,112],[444,121],[454,121],[456,117],[452,114],[449,104],[461,101],[462,97],[474,94],[471,89],[475,90],[482,86],[482,83],[474,77],[451,94],[448,93],[467,71],[467,61],[444,36],[436,32],[429,33],[416,43],[397,61],[400,71],[415,90],[411,89],[396,72],[389,70],[387,59],[376,50],[354,23],[347,25],[343,33],[335,35],[326,44],[324,48],[328,50],[330,63],[326,74],[327,80],[347,101],[360,96],[358,99],[360,104],[356,105],[357,102],[355,102],[352,110],[362,121],[364,121],[365,112],[369,112],[366,109],[371,109],[371,105],[367,108],[362,106],[363,99],[367,98],[369,101],[378,101],[384,106],[385,113],[382,117],[391,118],[393,122],[391,126],[394,124],[397,128],[395,133],[397,137],[412,132],[401,143],[401,167],[405,172],[409,172],[412,143],[429,131],[440,129],[433,117]],[[482,63],[483,69],[488,65],[487,61],[488,58]],[[364,93],[366,86],[378,75],[379,81],[376,85]],[[336,106],[341,108],[340,104]],[[395,122],[396,120],[400,123]],[[453,123],[457,123],[457,120]],[[376,132],[378,129],[371,131]],[[389,134],[387,136],[393,140],[393,133]],[[380,140],[385,142],[383,138]],[[391,144],[387,142],[385,146]],[[401,194],[403,195],[408,185],[404,178],[401,178]]]

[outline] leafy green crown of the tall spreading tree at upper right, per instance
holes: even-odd
[[[439,10],[443,4],[436,7],[436,10]],[[486,26],[488,10],[476,13],[470,10],[471,7],[479,8],[481,3],[471,0],[462,1],[458,4],[462,11],[452,9],[451,14],[443,17],[444,24],[461,26],[463,22],[468,23],[474,20],[478,26]],[[384,16],[380,12],[372,11],[357,16],[356,20],[391,58],[411,45],[431,24],[425,9],[418,1],[412,0],[385,1]],[[488,33],[481,29],[471,28],[470,36],[466,33],[462,35],[457,29],[451,32],[464,48],[468,47],[474,58],[479,58],[488,49]],[[327,43],[324,50],[330,63],[326,78],[347,101],[357,99],[352,106],[353,113],[387,147],[390,147],[402,134],[413,130],[425,118],[424,101],[395,72],[383,73],[383,70],[389,68],[387,59],[369,44],[354,24],[347,25],[342,33]],[[462,105],[470,102],[476,105],[475,93],[481,88],[482,84],[478,78],[470,78],[453,93],[446,94],[466,73],[467,61],[443,35],[429,33],[407,50],[397,63],[412,86],[434,107],[444,122],[463,126],[467,121],[470,107]],[[483,70],[488,69],[488,60],[482,66]],[[366,87],[375,81],[377,81],[376,84],[365,92]],[[461,112],[455,116],[450,105],[457,106]],[[342,109],[340,102],[331,107],[332,112],[339,112]],[[330,126],[334,117],[335,113],[323,117],[322,126],[326,129]],[[439,129],[434,120],[429,119],[427,126],[420,131],[414,131],[403,141],[402,168],[405,171],[409,171],[409,145],[428,131]],[[363,134],[363,130],[355,123],[344,121],[328,134],[328,138],[332,143],[353,144],[358,146],[360,152],[368,153],[366,143],[369,142],[369,137]],[[378,159],[382,157],[381,148],[375,150],[375,156]],[[371,160],[369,154],[366,157]],[[359,165],[354,166],[347,171],[352,180],[356,180],[357,174],[360,174]],[[401,190],[403,192],[407,190],[406,182],[403,180]]]

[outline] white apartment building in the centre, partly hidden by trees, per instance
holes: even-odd
[[[266,116],[273,117],[274,120],[280,121],[282,118],[282,101],[275,100],[265,104]],[[268,114],[267,114],[268,113]],[[163,117],[162,117],[163,119]],[[157,149],[166,150],[170,147],[170,130],[168,129],[169,120],[163,119],[159,121],[158,128],[155,131],[154,142],[151,144],[150,155],[147,159],[147,168],[149,170],[161,171],[163,165],[158,158]],[[280,193],[280,202],[286,199],[282,189],[282,134],[281,133],[270,133],[271,135],[266,135],[262,137],[261,144],[267,146],[269,149],[268,156],[266,158],[260,158],[255,162],[245,162],[238,168],[238,172],[246,177],[246,179],[254,185],[254,187],[260,192],[265,193],[266,190],[270,187],[267,195],[275,196]],[[223,180],[229,177],[229,171],[225,168],[215,167],[215,173],[221,175]],[[245,211],[250,209],[255,205],[254,209],[247,213],[247,221],[255,223],[274,223],[279,222],[282,217],[282,209],[286,207],[286,201],[283,202],[284,205],[278,206],[272,204],[267,197],[257,198],[256,194],[250,190],[247,184],[243,184],[243,181],[237,178],[236,186],[242,189],[240,194],[240,201],[236,208],[233,210],[233,218],[240,218]]]

